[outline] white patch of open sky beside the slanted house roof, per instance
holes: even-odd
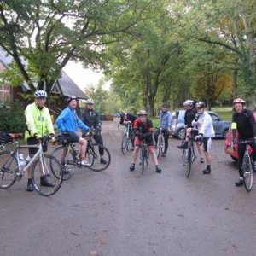
[[[64,71],[82,90],[91,84],[96,86],[100,79],[104,77],[102,72],[84,68],[81,63],[75,63],[73,61],[67,63],[66,67],[64,67]]]

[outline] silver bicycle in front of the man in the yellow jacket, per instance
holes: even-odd
[[[15,141],[12,151],[4,150],[0,153],[1,189],[8,189],[15,181],[21,180],[29,168],[32,170],[33,188],[38,194],[43,196],[54,195],[61,188],[63,173],[59,161],[52,155],[43,153],[42,143],[48,143],[50,138],[49,136],[39,138],[40,143],[36,145],[19,145],[19,142]],[[38,148],[38,152],[28,161],[23,157],[21,158],[20,150],[24,148]],[[53,187],[41,185],[43,175],[50,178],[50,181],[54,183]]]

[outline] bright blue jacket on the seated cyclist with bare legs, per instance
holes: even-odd
[[[56,125],[60,132],[70,131],[76,133],[78,129],[90,131],[90,128],[79,119],[75,109],[65,108],[56,119]]]

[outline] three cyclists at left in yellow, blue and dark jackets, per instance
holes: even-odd
[[[44,90],[37,90],[34,93],[34,102],[29,104],[25,110],[26,116],[26,133],[25,139],[27,144],[33,145],[39,143],[39,137],[43,137],[45,134],[49,134],[52,137],[52,143],[55,143],[55,130],[52,124],[52,120],[49,114],[49,109],[45,107],[47,99],[47,93]],[[86,160],[87,140],[84,138],[84,133],[97,129],[94,135],[94,139],[97,143],[103,145],[103,139],[101,135],[102,122],[99,113],[94,110],[94,101],[87,99],[85,102],[84,113],[82,119],[79,118],[76,108],[78,104],[78,98],[76,96],[69,96],[67,98],[67,108],[63,109],[58,118],[55,121],[58,131],[63,136],[68,137],[71,143],[80,144],[80,159],[82,166],[90,166],[90,161]],[[81,130],[82,136],[78,134],[78,130]],[[29,157],[32,158],[37,153],[37,148],[29,148]],[[47,147],[43,147],[44,152],[47,151]],[[104,160],[104,151],[100,152],[101,164],[107,163]],[[54,183],[51,183],[49,177],[41,177],[41,186],[52,187]],[[27,191],[33,191],[31,172],[28,172]]]

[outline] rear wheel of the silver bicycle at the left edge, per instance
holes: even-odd
[[[8,189],[16,180],[17,160],[10,151],[0,153],[0,188]]]

